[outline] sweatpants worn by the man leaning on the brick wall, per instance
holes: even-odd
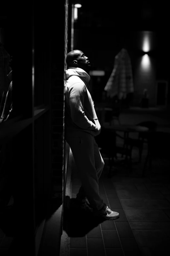
[[[94,210],[103,207],[103,200],[99,194],[98,179],[102,174],[104,161],[97,143],[91,134],[85,137],[67,137],[76,166],[81,179],[78,196],[83,200],[87,197]]]

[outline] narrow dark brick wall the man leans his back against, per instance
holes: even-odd
[[[52,40],[52,196],[62,198],[63,176],[65,165],[65,142],[64,142],[64,93],[65,71],[68,44],[68,0],[57,2],[57,10],[54,22],[56,31]],[[63,17],[63,18],[61,18]],[[60,26],[59,26],[60,25]],[[56,35],[55,35],[56,33]]]

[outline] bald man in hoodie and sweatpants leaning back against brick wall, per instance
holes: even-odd
[[[72,150],[82,183],[76,200],[81,208],[94,216],[113,220],[119,217],[119,213],[111,211],[103,202],[98,186],[104,161],[94,139],[100,134],[101,126],[89,86],[91,65],[80,50],[69,52],[66,62],[65,139]]]

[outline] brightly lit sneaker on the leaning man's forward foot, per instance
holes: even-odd
[[[93,214],[97,217],[103,217],[107,220],[114,220],[119,218],[119,213],[111,211],[105,203],[101,210],[93,211]]]

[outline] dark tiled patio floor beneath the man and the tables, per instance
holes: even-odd
[[[106,159],[104,161],[106,165]],[[77,230],[73,236],[70,233],[70,256],[157,256],[170,252],[168,173],[161,173],[159,165],[153,169],[153,173],[147,173],[145,178],[140,178],[140,171],[141,165],[134,165],[128,176],[126,168],[121,167],[119,172],[114,172],[113,168],[113,176],[108,179],[107,170],[104,169],[99,179],[100,194],[111,210],[120,213],[120,218],[93,225],[92,217],[83,215],[82,218],[86,218],[86,225],[88,223],[89,226],[86,229],[86,225],[82,225],[84,220],[78,220],[76,225],[84,228],[84,232],[81,230],[79,235]],[[80,185],[73,162],[73,199]]]

